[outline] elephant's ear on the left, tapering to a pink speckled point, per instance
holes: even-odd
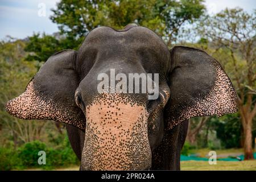
[[[49,119],[84,129],[84,114],[75,103],[76,56],[68,49],[49,57],[25,92],[7,102],[6,111],[21,119]]]

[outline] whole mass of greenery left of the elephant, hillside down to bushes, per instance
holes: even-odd
[[[24,92],[37,71],[36,61],[24,60],[27,55],[25,46],[26,42],[21,40],[0,42],[0,169],[52,169],[78,164],[67,133],[59,134],[54,123],[24,121],[5,111],[6,102]],[[47,126],[47,130],[44,130],[44,126]],[[40,150],[46,151],[46,165],[38,164]]]

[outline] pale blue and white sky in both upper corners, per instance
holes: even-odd
[[[0,39],[6,35],[23,39],[34,32],[57,32],[55,23],[49,19],[51,9],[56,9],[60,0],[0,0]],[[228,8],[242,7],[249,13],[256,9],[255,0],[205,0],[210,14]],[[42,13],[45,7],[45,14]],[[45,16],[44,16],[45,15]]]

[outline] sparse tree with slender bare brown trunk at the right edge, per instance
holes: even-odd
[[[250,15],[239,8],[226,9],[216,16],[207,16],[198,30],[213,44],[213,55],[224,51],[228,57],[220,61],[226,65],[237,90],[245,159],[253,159],[251,132],[256,115],[256,11]]]

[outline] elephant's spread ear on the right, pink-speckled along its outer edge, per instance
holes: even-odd
[[[177,46],[170,53],[170,128],[192,117],[236,113],[236,92],[218,61],[195,48]]]

